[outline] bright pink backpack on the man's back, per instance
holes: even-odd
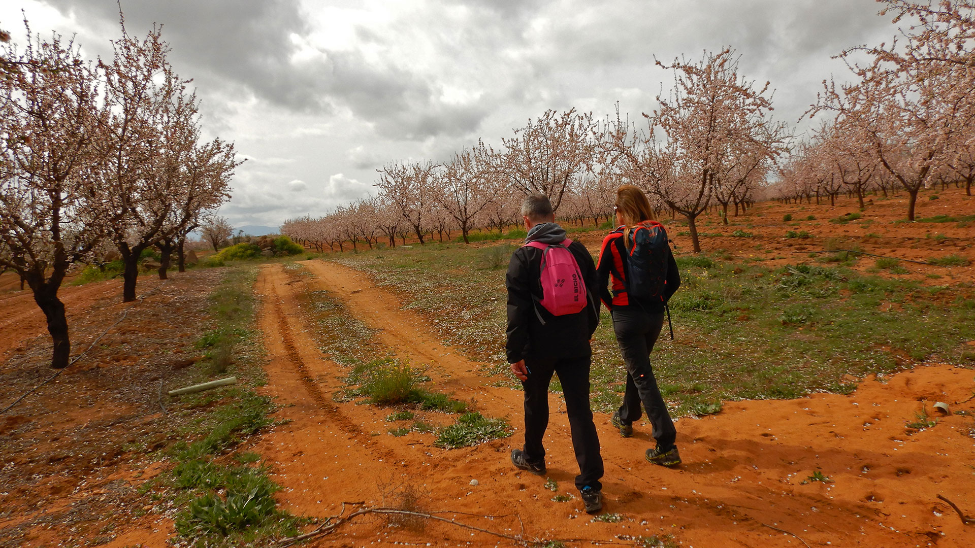
[[[579,270],[579,263],[575,261],[575,255],[568,251],[568,246],[572,241],[568,238],[560,244],[543,244],[541,242],[528,242],[526,247],[535,248],[542,252],[541,264],[541,283],[542,300],[541,304],[554,316],[565,316],[566,314],[577,314],[586,307],[586,284],[582,279],[582,271]],[[542,320],[538,311],[535,310],[538,319]]]

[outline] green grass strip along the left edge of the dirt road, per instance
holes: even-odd
[[[254,321],[255,276],[254,269],[228,272],[210,295],[211,317],[220,327],[205,333],[197,348],[210,352],[227,347],[236,353],[246,346],[249,355],[254,352],[259,338],[246,328]],[[193,380],[209,380],[208,373],[212,371],[198,368]],[[193,418],[176,428],[184,441],[165,451],[174,467],[146,484],[148,489],[169,487],[163,492],[173,497],[176,506],[176,533],[188,545],[265,545],[296,534],[309,523],[277,507],[273,495],[280,487],[258,462],[259,454],[235,452],[274,423],[269,417],[274,406],[253,389],[263,383],[259,360],[243,359],[234,365],[234,374],[240,378],[235,385],[180,397],[175,412]]]

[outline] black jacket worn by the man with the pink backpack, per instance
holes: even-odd
[[[559,243],[565,230],[554,222],[532,227],[526,242]],[[578,314],[553,316],[539,304],[542,298],[542,251],[523,247],[511,255],[505,286],[508,288],[508,330],[505,350],[508,363],[525,358],[581,358],[589,356],[589,339],[600,322],[596,265],[585,246],[573,241],[568,246],[579,265],[589,305]],[[545,321],[543,325],[538,316]]]

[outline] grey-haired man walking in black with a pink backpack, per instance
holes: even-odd
[[[600,306],[596,266],[585,246],[565,239],[547,197],[528,196],[522,218],[526,246],[511,255],[505,280],[508,362],[525,387],[525,448],[512,450],[511,461],[532,474],[545,474],[548,389],[553,373],[558,374],[579,464],[575,487],[586,512],[595,514],[603,509],[603,457],[589,407],[589,339],[599,324]]]

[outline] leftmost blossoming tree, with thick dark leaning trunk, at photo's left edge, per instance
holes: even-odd
[[[62,369],[71,345],[58,291],[104,236],[95,174],[106,116],[96,72],[72,42],[29,27],[27,42],[22,53],[0,46],[0,267],[30,286],[54,340],[51,366]]]

